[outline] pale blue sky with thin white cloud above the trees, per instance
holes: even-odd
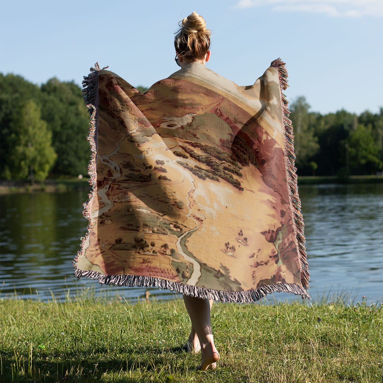
[[[192,11],[212,31],[208,67],[239,85],[281,57],[290,101],[320,113],[383,105],[381,0],[0,0],[0,70],[80,85],[98,61],[149,87],[178,70],[174,32]]]

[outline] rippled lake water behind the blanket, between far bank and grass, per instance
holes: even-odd
[[[313,299],[334,293],[352,300],[383,297],[381,184],[301,185]],[[87,191],[4,195],[0,198],[0,297],[65,299],[92,286],[97,294],[135,300],[146,290],[159,299],[177,295],[156,288],[121,288],[73,276],[72,260],[86,231]],[[275,294],[277,300],[294,298]],[[269,298],[270,299],[270,298]],[[272,299],[272,298],[271,298]]]

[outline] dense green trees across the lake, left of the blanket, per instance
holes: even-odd
[[[89,115],[80,87],[56,78],[39,87],[13,74],[0,74],[0,85],[0,177],[85,174]]]

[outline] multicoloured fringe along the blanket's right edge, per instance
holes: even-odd
[[[308,271],[308,262],[306,247],[304,243],[306,238],[304,237],[304,222],[301,214],[301,200],[298,195],[298,177],[296,175],[295,159],[296,155],[294,152],[294,134],[293,125],[291,120],[288,118],[290,111],[288,109],[288,100],[285,94],[282,92],[288,88],[288,73],[285,68],[286,63],[278,59],[272,61],[270,64],[272,67],[278,70],[280,94],[282,102],[282,113],[283,113],[283,126],[284,126],[284,141],[285,141],[285,158],[286,158],[286,179],[289,186],[289,194],[291,200],[291,206],[293,207],[293,221],[295,226],[295,234],[298,242],[299,260],[301,267],[301,282],[305,289],[309,288],[310,273]]]

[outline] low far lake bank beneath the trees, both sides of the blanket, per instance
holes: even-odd
[[[300,176],[299,185],[319,184],[319,183],[379,183],[383,182],[381,175],[352,175],[350,177],[337,176]],[[36,191],[64,192],[72,190],[90,190],[87,178],[56,178],[44,182],[36,182],[31,185],[26,181],[0,181],[0,194],[11,193],[31,193]]]

